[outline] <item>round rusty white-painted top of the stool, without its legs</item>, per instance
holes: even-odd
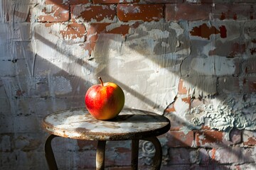
[[[97,120],[85,108],[47,115],[43,128],[53,135],[79,140],[140,140],[169,131],[168,118],[149,111],[123,108],[112,120]]]

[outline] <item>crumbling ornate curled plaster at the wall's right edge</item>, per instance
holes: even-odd
[[[196,125],[208,125],[211,129],[230,132],[233,128],[256,130],[256,96],[241,101],[242,96],[215,98],[213,103],[192,108],[191,122]],[[225,136],[226,139],[229,133]]]

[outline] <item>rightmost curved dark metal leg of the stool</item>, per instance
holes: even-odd
[[[143,140],[147,140],[149,142],[152,142],[155,149],[156,149],[156,153],[154,155],[154,159],[153,159],[153,165],[152,165],[152,170],[159,170],[161,168],[161,161],[162,161],[162,157],[163,157],[163,152],[161,149],[161,143],[159,142],[159,140],[157,139],[157,137],[148,137],[146,139]]]

